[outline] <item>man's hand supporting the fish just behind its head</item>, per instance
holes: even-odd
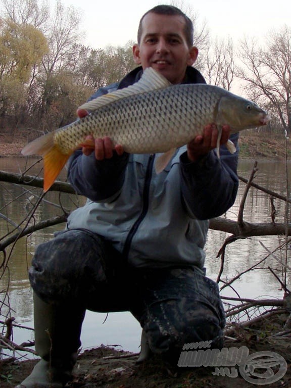
[[[220,138],[220,145],[229,139],[230,127],[224,125]],[[203,135],[196,136],[187,144],[187,155],[191,162],[197,161],[201,156],[207,155],[217,146],[218,129],[215,124],[206,125]]]

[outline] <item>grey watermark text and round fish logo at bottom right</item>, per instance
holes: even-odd
[[[287,371],[287,363],[274,352],[249,354],[246,346],[240,348],[209,349],[212,341],[184,344],[178,366],[213,366],[215,376],[238,376],[235,366],[246,381],[256,385],[267,385],[278,381]],[[206,350],[204,350],[206,349]]]

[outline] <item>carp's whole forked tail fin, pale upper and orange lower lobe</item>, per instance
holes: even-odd
[[[54,132],[47,133],[28,143],[21,151],[22,155],[40,155],[44,162],[43,191],[50,189],[70,154],[63,154],[54,143]]]

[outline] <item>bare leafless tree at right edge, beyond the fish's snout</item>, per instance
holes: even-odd
[[[245,39],[240,46],[243,66],[239,78],[257,101],[265,100],[277,112],[287,133],[291,132],[291,28],[271,31],[265,44]]]

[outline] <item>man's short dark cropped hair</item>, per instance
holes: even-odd
[[[159,5],[151,10],[147,11],[144,15],[142,15],[139,25],[138,25],[138,30],[137,30],[137,43],[140,43],[141,39],[141,34],[142,34],[142,21],[144,17],[148,14],[158,14],[158,15],[178,15],[182,16],[182,18],[185,21],[185,28],[184,28],[184,33],[186,37],[186,42],[189,47],[193,45],[193,33],[194,33],[194,28],[193,28],[193,23],[191,19],[188,18],[187,15],[185,15],[179,8],[174,7],[174,6],[169,6],[169,5]]]

